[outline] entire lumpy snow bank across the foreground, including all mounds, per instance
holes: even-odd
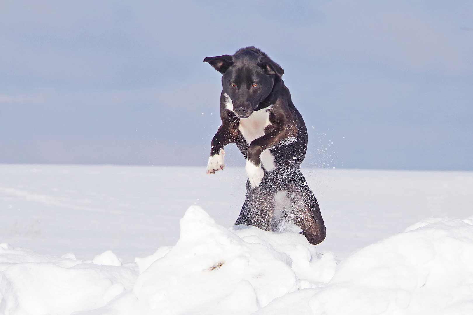
[[[200,207],[180,239],[122,264],[0,245],[0,312],[105,314],[473,314],[473,220],[428,219],[338,266],[297,233],[226,229]]]

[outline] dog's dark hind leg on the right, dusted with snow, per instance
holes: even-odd
[[[299,166],[291,167],[289,174],[283,186],[290,196],[292,219],[311,244],[318,244],[325,239],[325,225],[319,204]]]

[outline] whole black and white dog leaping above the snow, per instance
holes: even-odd
[[[207,173],[223,170],[229,143],[246,158],[246,200],[235,224],[275,231],[292,222],[310,243],[322,242],[320,208],[299,168],[307,129],[281,79],[284,70],[255,47],[203,61],[223,74],[222,125],[212,139]]]

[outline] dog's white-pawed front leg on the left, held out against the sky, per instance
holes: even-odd
[[[231,132],[231,126],[222,124],[212,139],[210,148],[209,162],[207,163],[207,174],[214,174],[218,170],[225,168],[225,151],[223,147],[229,143],[235,142],[234,133]]]

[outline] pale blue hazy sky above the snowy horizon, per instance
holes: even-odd
[[[473,170],[467,0],[0,0],[0,163],[205,168],[202,60],[250,45],[284,68],[306,167]]]

